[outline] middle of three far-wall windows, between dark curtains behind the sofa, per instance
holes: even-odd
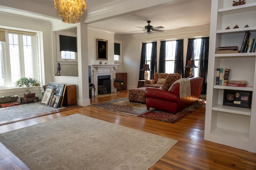
[[[166,73],[174,73],[174,62],[176,53],[176,41],[166,41]]]

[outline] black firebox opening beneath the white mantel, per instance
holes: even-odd
[[[98,94],[111,93],[111,76],[98,76]]]

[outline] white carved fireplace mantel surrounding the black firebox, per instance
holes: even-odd
[[[114,78],[119,64],[88,64],[91,66],[92,83],[95,85],[95,94],[98,94],[98,76],[110,75],[111,92],[114,92]]]

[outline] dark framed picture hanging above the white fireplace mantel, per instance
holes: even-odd
[[[108,60],[108,40],[97,39],[97,60]]]

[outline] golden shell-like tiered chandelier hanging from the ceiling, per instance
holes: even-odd
[[[65,23],[78,23],[86,10],[85,0],[54,0],[54,7],[59,8],[59,16]]]

